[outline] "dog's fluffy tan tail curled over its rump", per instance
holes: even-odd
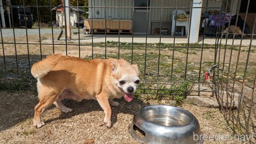
[[[50,72],[50,70],[55,67],[61,57],[62,56],[59,54],[50,55],[46,57],[46,59],[34,63],[31,68],[31,74],[35,78],[44,77],[48,72]]]

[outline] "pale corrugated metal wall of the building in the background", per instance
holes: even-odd
[[[178,9],[183,9],[184,11],[190,11],[190,5],[192,0],[151,0],[151,7],[161,7],[161,2],[163,2],[163,13],[162,13],[162,21],[171,21],[171,13],[175,10],[177,5]],[[237,1],[237,0],[235,0]],[[133,0],[109,0],[109,1],[101,1],[94,0],[88,1],[89,3],[89,17],[97,18],[97,19],[119,19],[119,8],[106,8],[106,16],[105,16],[105,2],[106,7],[132,7]],[[203,7],[206,7],[207,0],[203,0]],[[93,11],[92,11],[92,8]],[[164,7],[173,7],[173,8],[164,8]],[[187,7],[187,8],[184,8]],[[208,10],[216,9],[220,10],[221,1],[216,0],[208,0]],[[236,7],[233,7],[232,12],[235,11]],[[132,19],[132,8],[120,8],[120,19]],[[204,12],[206,9],[202,9]],[[92,13],[93,12],[93,13]],[[150,20],[151,21],[160,21],[161,18],[161,8],[150,8]]]

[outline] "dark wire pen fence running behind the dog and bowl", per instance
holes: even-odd
[[[148,0],[143,7],[137,6],[135,1],[110,2],[89,0],[87,6],[53,5],[52,1],[46,6],[39,5],[37,1],[35,5],[2,5],[5,10],[10,8],[9,26],[15,23],[13,8],[21,7],[24,26],[3,28],[1,25],[0,88],[35,89],[36,80],[30,74],[31,66],[50,54],[86,59],[123,58],[139,66],[142,80],[137,94],[159,99],[174,99],[177,95],[214,96],[234,132],[253,134],[250,142],[255,141],[256,15],[248,12],[250,0],[245,12],[239,12],[242,11],[241,1],[216,1],[216,4],[202,1],[199,7],[195,7],[193,1],[169,3]],[[29,16],[25,14],[24,7],[36,9],[37,14],[39,8],[48,9],[49,26],[44,27],[36,15],[32,29],[29,29]],[[89,18],[82,21],[83,27],[80,28],[79,20],[67,22],[67,13],[62,16],[61,10],[58,11],[61,8],[64,11],[77,9],[73,9],[72,14],[78,19],[82,12],[79,9],[88,10]],[[175,26],[173,33],[171,24],[178,25],[178,22],[172,21],[171,17],[180,15],[178,9],[188,14],[189,29],[183,32],[184,27]],[[195,9],[202,9],[200,43],[189,42],[194,36],[190,30],[196,28],[191,18]],[[175,10],[171,16],[170,11]],[[250,22],[249,33],[225,31],[225,22],[228,28],[231,27],[234,15],[242,15],[245,21]],[[111,23],[113,21],[115,23]],[[142,23],[140,27],[137,22]],[[69,30],[69,24],[78,28]],[[127,28],[123,28],[125,24]],[[205,25],[204,28],[201,24]],[[237,18],[235,27],[238,24]],[[111,25],[116,28],[110,28]],[[246,27],[247,24],[242,23],[241,29]],[[179,36],[180,31],[187,35]]]

